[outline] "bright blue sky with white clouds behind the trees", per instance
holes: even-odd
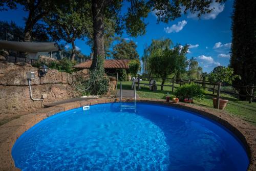
[[[126,5],[123,6],[123,11]],[[136,42],[140,57],[152,39],[170,38],[174,44],[189,44],[187,58],[196,57],[203,71],[210,72],[216,66],[229,64],[232,5],[232,0],[226,1],[223,5],[213,3],[211,7],[215,7],[215,10],[203,15],[200,20],[195,15],[187,14],[168,24],[157,24],[155,14],[151,12],[145,19],[148,23],[145,35],[129,37],[124,33],[122,37],[127,41],[132,39]],[[21,7],[0,12],[1,20],[12,20],[19,26],[25,25],[24,17],[27,15]],[[91,48],[84,41],[76,40],[75,44],[83,54],[91,53]]]

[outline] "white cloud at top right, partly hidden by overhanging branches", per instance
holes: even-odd
[[[212,12],[203,14],[201,18],[203,19],[215,19],[225,8],[225,4],[220,4],[216,2],[212,2],[210,4],[209,9],[212,9]],[[189,13],[187,18],[198,18],[198,13]]]

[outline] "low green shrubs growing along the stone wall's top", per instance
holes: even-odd
[[[46,65],[50,69],[55,69],[60,72],[72,73],[74,72],[73,66],[75,64],[75,62],[69,60],[68,58],[63,58],[61,60],[38,59],[35,63],[33,63],[33,67],[39,68],[40,66]]]

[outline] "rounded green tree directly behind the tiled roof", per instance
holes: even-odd
[[[121,40],[119,44],[116,44],[113,48],[112,55],[115,59],[139,59],[139,54],[136,50],[137,45],[134,41]]]

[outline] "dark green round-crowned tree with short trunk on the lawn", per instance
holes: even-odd
[[[167,42],[167,40],[164,40]],[[158,45],[161,45],[158,43]],[[162,44],[165,45],[165,44]],[[183,73],[186,69],[186,53],[188,45],[183,48],[180,45],[176,45],[173,48],[163,49],[162,47],[155,49],[151,52],[149,59],[149,68],[152,73],[162,77],[162,86],[168,75],[173,73]]]

